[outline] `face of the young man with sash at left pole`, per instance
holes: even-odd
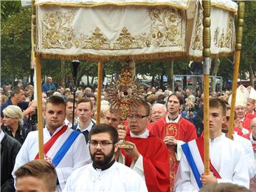
[[[47,127],[50,129],[57,129],[63,125],[65,120],[65,105],[55,105],[48,102],[46,104],[46,112],[44,112]]]

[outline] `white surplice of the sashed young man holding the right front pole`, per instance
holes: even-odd
[[[193,147],[193,160],[196,163],[199,174],[202,175],[204,166],[196,146],[196,140],[188,142],[188,145],[190,149]],[[225,134],[222,134],[220,137],[209,141],[209,149],[210,161],[221,176],[221,178],[217,179],[218,183],[235,183],[249,188],[250,177],[242,146],[225,137]],[[199,190],[196,179],[184,154],[178,166],[174,188],[176,192]]]

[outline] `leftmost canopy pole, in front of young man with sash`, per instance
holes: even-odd
[[[34,56],[34,48],[36,45],[36,6],[32,1],[32,25],[31,25],[31,57]],[[41,58],[36,57],[36,100],[38,115],[38,149],[39,159],[43,159],[43,104],[42,104],[42,85],[41,85]]]

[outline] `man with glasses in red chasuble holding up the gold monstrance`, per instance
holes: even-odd
[[[118,126],[119,139],[134,145],[132,149],[117,152],[119,162],[137,171],[146,181],[149,191],[169,191],[169,157],[166,145],[146,129],[149,124],[149,105],[142,101],[131,114],[127,114],[129,130]],[[119,153],[119,154],[118,154]]]

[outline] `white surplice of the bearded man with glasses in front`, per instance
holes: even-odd
[[[142,177],[129,167],[114,162],[109,169],[94,169],[92,164],[77,169],[68,178],[63,192],[147,191]]]

